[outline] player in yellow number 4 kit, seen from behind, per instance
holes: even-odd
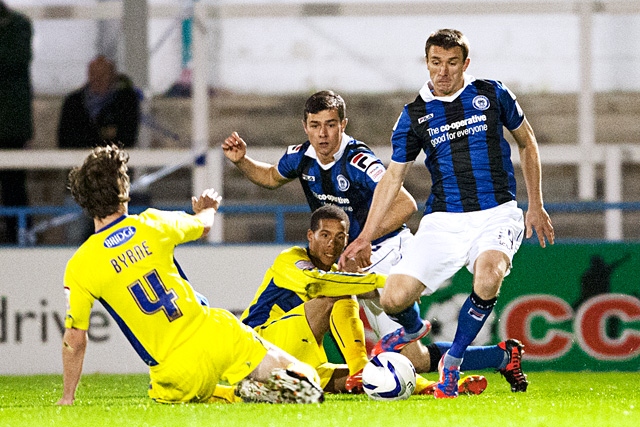
[[[58,404],[75,400],[96,300],[149,366],[148,393],[158,402],[216,400],[219,381],[238,384],[236,394],[245,401],[321,402],[323,391],[311,366],[228,311],[202,305],[175,263],[176,245],[209,232],[218,194],[208,189],[193,197],[194,215],[156,209],[128,215],[128,158],[115,145],[96,147],[69,174],[71,194],[93,217],[96,232],[65,270],[64,388]]]

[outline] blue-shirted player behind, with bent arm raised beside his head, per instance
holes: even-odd
[[[354,239],[364,226],[376,185],[385,173],[382,161],[363,142],[346,134],[348,119],[344,99],[333,91],[311,95],[304,106],[302,125],[308,140],[287,147],[277,164],[255,160],[247,155],[247,144],[237,132],[222,144],[225,156],[254,184],[279,188],[299,180],[311,211],[323,205],[335,205],[349,217],[349,238]],[[373,265],[370,271],[388,274],[401,257],[401,249],[412,237],[405,222],[417,211],[416,202],[402,188],[376,229],[369,248]],[[365,267],[359,255],[352,267]],[[395,331],[400,325],[384,313],[377,298],[359,299],[377,338]],[[403,352],[422,371],[428,351],[416,342]]]

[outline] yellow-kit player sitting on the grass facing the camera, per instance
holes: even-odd
[[[240,317],[260,336],[316,368],[329,392],[360,392],[368,357],[364,326],[352,295],[370,294],[386,276],[337,271],[334,262],[347,243],[349,218],[333,205],[318,208],[307,231],[308,248],[283,251],[264,276]],[[331,364],[323,337],[331,330],[347,368]]]

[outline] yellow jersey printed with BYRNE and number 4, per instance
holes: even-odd
[[[65,326],[88,329],[99,300],[142,360],[161,363],[208,316],[173,257],[176,245],[202,232],[192,215],[148,209],[93,234],[67,263]]]

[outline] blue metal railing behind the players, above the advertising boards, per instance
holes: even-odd
[[[424,206],[424,204],[422,204]],[[520,204],[526,209],[526,204]],[[190,211],[190,206],[165,206],[161,209]],[[604,212],[607,210],[640,211],[640,202],[569,202],[569,203],[547,203],[545,208],[550,213],[592,213]],[[130,206],[132,213],[139,213],[146,209],[146,206]],[[420,209],[421,210],[421,209]],[[77,217],[81,214],[77,206],[25,206],[25,207],[2,207],[0,206],[0,217],[14,216],[18,222],[18,246],[28,246],[33,244],[29,236],[29,218],[36,216],[50,216],[62,218],[64,215]],[[307,205],[225,205],[220,207],[220,213],[225,215],[252,215],[269,214],[275,220],[275,240],[274,243],[285,243],[285,215],[292,213],[309,212]]]

